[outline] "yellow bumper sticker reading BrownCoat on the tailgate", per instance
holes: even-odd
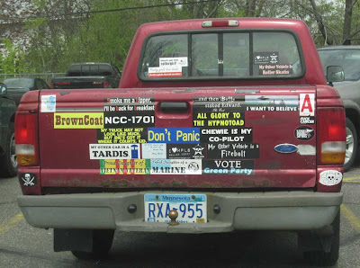
[[[55,112],[54,129],[103,129],[103,112]]]

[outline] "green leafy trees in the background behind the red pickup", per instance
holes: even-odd
[[[25,52],[8,42],[6,53],[0,55],[0,67],[6,72],[65,72],[74,62],[111,62],[122,68],[131,40],[139,25],[145,22],[172,21],[206,17],[247,16],[247,1],[219,0],[202,4],[182,4],[146,9],[129,9],[108,13],[70,12],[126,9],[157,4],[181,4],[188,0],[32,0],[32,4],[49,18],[37,18],[23,23],[30,36]],[[334,43],[342,40],[344,3],[316,0],[318,13]],[[320,34],[312,6],[308,0],[257,0],[255,16],[284,17],[304,20],[311,29],[317,46],[325,42]],[[353,29],[360,32],[359,4],[354,6]],[[356,37],[356,36],[354,36]],[[26,54],[26,55],[25,55]],[[26,61],[23,60],[26,58]]]

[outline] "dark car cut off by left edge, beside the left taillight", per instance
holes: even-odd
[[[15,155],[14,100],[7,94],[6,85],[0,83],[0,177],[14,177],[18,165]]]

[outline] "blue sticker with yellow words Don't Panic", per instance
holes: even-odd
[[[148,143],[199,143],[199,128],[148,128]]]

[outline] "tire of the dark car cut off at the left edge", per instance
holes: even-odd
[[[15,154],[14,123],[10,123],[9,129],[7,130],[4,156],[0,157],[0,161],[2,163],[0,170],[2,177],[14,177],[17,174],[19,166],[17,165]]]

